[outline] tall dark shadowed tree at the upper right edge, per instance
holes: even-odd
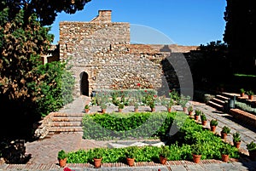
[[[232,65],[240,71],[255,69],[256,5],[251,0],[227,0],[224,42],[228,44]]]

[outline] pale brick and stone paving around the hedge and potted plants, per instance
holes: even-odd
[[[84,97],[79,97],[77,100],[73,102],[73,104],[66,106],[61,111],[76,113],[79,112],[83,114],[84,111],[84,103],[88,102],[89,100]],[[217,133],[221,130],[222,126],[228,125],[232,128],[232,132],[239,131],[241,133],[241,149],[247,151],[246,144],[251,142],[251,140],[255,140],[256,133],[251,131],[248,128],[243,128],[241,125],[234,123],[233,121],[225,118],[227,117],[223,112],[217,111],[216,109],[212,108],[211,106],[201,104],[195,102],[195,107],[203,110],[207,115],[207,120],[210,121],[212,118],[217,118],[220,125],[218,127]],[[174,106],[174,109],[177,111],[182,111],[180,106]],[[116,110],[115,106],[112,106],[108,109],[108,111]],[[140,110],[150,110],[147,106],[143,106]],[[158,107],[157,110],[166,110],[165,107]],[[75,112],[76,111],[76,112]],[[100,111],[98,106],[91,109],[91,112]],[[125,108],[125,112],[133,111],[131,106]],[[207,123],[207,128],[209,128],[209,122]],[[64,149],[65,151],[77,151],[79,149],[90,149],[95,147],[107,147],[108,145],[132,145],[137,143],[137,145],[161,145],[163,142],[160,141],[130,141],[130,142],[121,142],[121,141],[97,141],[97,140],[84,140],[82,139],[83,133],[73,133],[73,134],[54,134],[49,139],[39,140],[34,142],[27,142],[26,143],[26,152],[27,154],[32,154],[32,159],[29,161],[30,165],[26,165],[25,168],[19,168],[15,165],[7,165],[7,164],[0,164],[0,170],[31,170],[31,171],[38,171],[38,168],[42,170],[53,170],[53,171],[62,171],[63,168],[59,168],[57,163],[57,151]],[[228,136],[228,140],[231,140],[231,134]],[[42,166],[44,162],[45,166]],[[234,171],[245,171],[245,170],[256,170],[256,162],[252,161],[239,161],[239,162],[230,162],[230,163],[208,163],[207,164],[195,164],[193,162],[183,162],[183,161],[172,161],[168,162],[172,163],[166,166],[161,166],[159,163],[150,163],[154,166],[147,166],[147,167],[104,167],[104,168],[90,168],[84,167],[73,167],[73,170],[140,170],[140,171],[161,171],[171,170],[172,171],[220,171],[220,170],[234,170]],[[78,164],[79,165],[79,164]],[[120,166],[122,164],[119,164]],[[125,164],[123,164],[125,165]],[[83,167],[82,167],[83,166]],[[7,169],[11,168],[11,169]]]

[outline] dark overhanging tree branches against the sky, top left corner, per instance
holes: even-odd
[[[36,14],[42,26],[49,26],[55,21],[58,13],[64,11],[74,14],[84,9],[90,0],[1,0],[0,11],[9,8],[9,19],[13,20],[20,9],[24,10],[24,20]]]

